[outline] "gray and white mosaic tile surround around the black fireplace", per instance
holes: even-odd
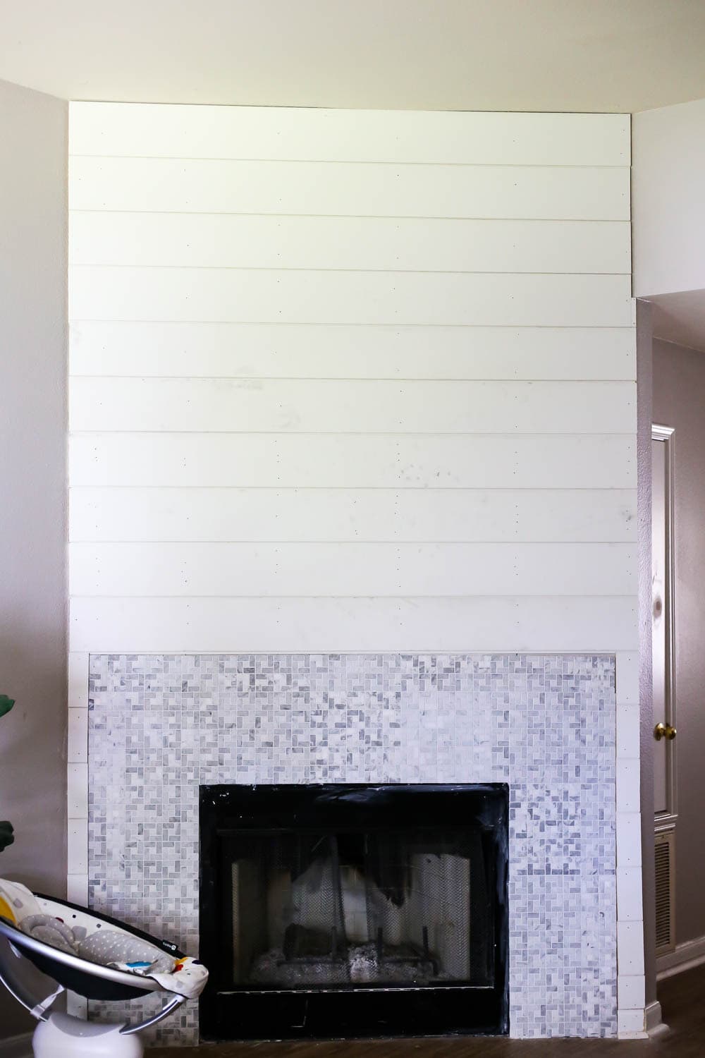
[[[95,909],[198,950],[200,784],[508,782],[511,1034],[616,1035],[613,657],[92,655],[89,711]]]

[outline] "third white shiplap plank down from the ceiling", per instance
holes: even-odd
[[[628,221],[73,213],[73,264],[630,273]]]

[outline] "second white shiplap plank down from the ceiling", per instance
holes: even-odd
[[[629,220],[629,168],[73,158],[72,209]]]

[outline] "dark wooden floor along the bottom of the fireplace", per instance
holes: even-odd
[[[203,1044],[150,1051],[150,1058],[705,1058],[705,966],[658,988],[668,1030],[650,1040],[500,1038]]]

